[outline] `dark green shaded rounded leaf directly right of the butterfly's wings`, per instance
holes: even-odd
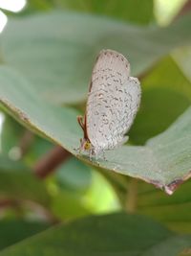
[[[190,104],[191,100],[171,89],[145,89],[138,116],[129,132],[131,141],[143,145],[175,122]]]

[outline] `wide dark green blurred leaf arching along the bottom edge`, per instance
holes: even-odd
[[[61,224],[12,245],[0,256],[175,256],[190,244],[190,235],[177,235],[145,217],[113,214]]]

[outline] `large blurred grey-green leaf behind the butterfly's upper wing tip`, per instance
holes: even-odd
[[[139,75],[169,51],[191,42],[190,22],[187,15],[160,29],[74,12],[35,14],[11,19],[1,35],[1,52],[4,62],[25,74],[38,94],[54,103],[76,103],[87,94],[102,48],[123,53],[133,74]]]

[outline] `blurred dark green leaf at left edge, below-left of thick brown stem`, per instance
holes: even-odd
[[[32,200],[43,205],[50,202],[44,183],[20,162],[0,157],[0,198]]]

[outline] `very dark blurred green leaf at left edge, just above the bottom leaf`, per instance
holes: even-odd
[[[0,221],[0,250],[48,228],[43,222]]]

